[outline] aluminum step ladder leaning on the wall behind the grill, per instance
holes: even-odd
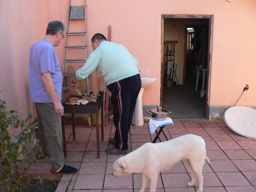
[[[88,50],[87,50],[87,18],[86,18],[86,0],[84,0],[84,6],[71,6],[71,0],[68,0],[68,19],[67,19],[67,32],[66,32],[66,39],[65,39],[65,46],[64,46],[64,60],[63,60],[63,86],[62,90],[66,93],[67,90],[69,90],[70,86],[68,86],[67,76],[75,76],[75,73],[67,73],[65,72],[65,68],[67,67],[66,63],[72,63],[71,66],[74,64],[79,63],[86,63],[88,58]],[[70,20],[84,20],[84,31],[82,32],[72,32],[69,33],[69,22]],[[84,35],[85,36],[85,42],[84,45],[79,46],[68,46],[68,39],[70,36],[76,36],[76,35]],[[68,49],[85,49],[85,59],[67,59],[67,50]],[[87,94],[90,94],[89,92],[89,77],[86,78],[86,86],[78,86],[77,89],[80,90],[86,90]]]

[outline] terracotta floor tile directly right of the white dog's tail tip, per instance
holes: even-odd
[[[239,170],[231,160],[212,160],[211,168],[214,172],[238,172]]]

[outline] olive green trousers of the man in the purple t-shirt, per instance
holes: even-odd
[[[44,155],[52,161],[52,171],[57,171],[64,163],[61,148],[61,116],[54,110],[53,103],[35,103],[37,108],[38,132]]]

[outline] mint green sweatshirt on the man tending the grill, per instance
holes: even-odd
[[[125,46],[109,41],[102,41],[87,59],[82,68],[76,71],[78,79],[85,79],[95,69],[102,72],[107,85],[139,74],[138,60]]]

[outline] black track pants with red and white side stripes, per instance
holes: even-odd
[[[140,74],[108,85],[108,90],[112,94],[113,122],[116,127],[115,146],[119,150],[128,148],[128,133],[140,88]]]

